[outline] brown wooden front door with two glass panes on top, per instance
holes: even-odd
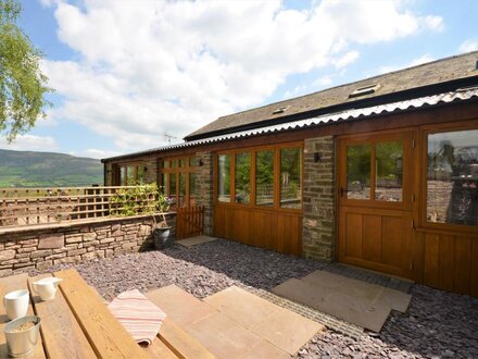
[[[412,277],[414,134],[339,139],[340,262]]]

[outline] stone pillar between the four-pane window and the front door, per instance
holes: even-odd
[[[327,262],[336,245],[334,152],[331,136],[305,140],[302,248],[305,258]]]

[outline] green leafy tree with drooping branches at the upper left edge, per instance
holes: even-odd
[[[21,11],[15,0],[0,0],[0,135],[9,143],[45,117],[50,106],[41,52],[16,25]]]

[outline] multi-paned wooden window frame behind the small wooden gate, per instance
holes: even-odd
[[[186,174],[186,191],[185,191],[185,198],[184,198],[184,202],[181,207],[190,207],[191,206],[191,193],[190,193],[190,174],[197,172],[197,165],[191,165],[191,158],[196,158],[194,154],[189,154],[189,156],[172,156],[172,157],[164,157],[164,158],[159,158],[158,159],[158,186],[161,188],[163,187],[163,174],[167,174],[168,176],[168,182],[167,182],[167,186],[166,188],[164,188],[164,194],[168,197],[175,197],[176,198],[176,206],[178,203],[179,200],[179,177],[180,174],[184,173]],[[179,166],[179,161],[184,160],[185,161],[185,165],[184,166]],[[163,163],[164,161],[169,161],[169,166],[168,168],[163,168]],[[171,163],[172,161],[176,161],[176,166],[172,168]],[[175,174],[176,175],[176,194],[172,194],[171,193],[171,174]],[[196,197],[196,196],[194,196]]]

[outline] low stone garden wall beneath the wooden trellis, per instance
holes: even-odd
[[[175,227],[175,215],[166,215]],[[158,220],[159,221],[159,220]],[[151,216],[18,227],[0,233],[0,276],[153,248]],[[174,237],[174,230],[171,233]]]

